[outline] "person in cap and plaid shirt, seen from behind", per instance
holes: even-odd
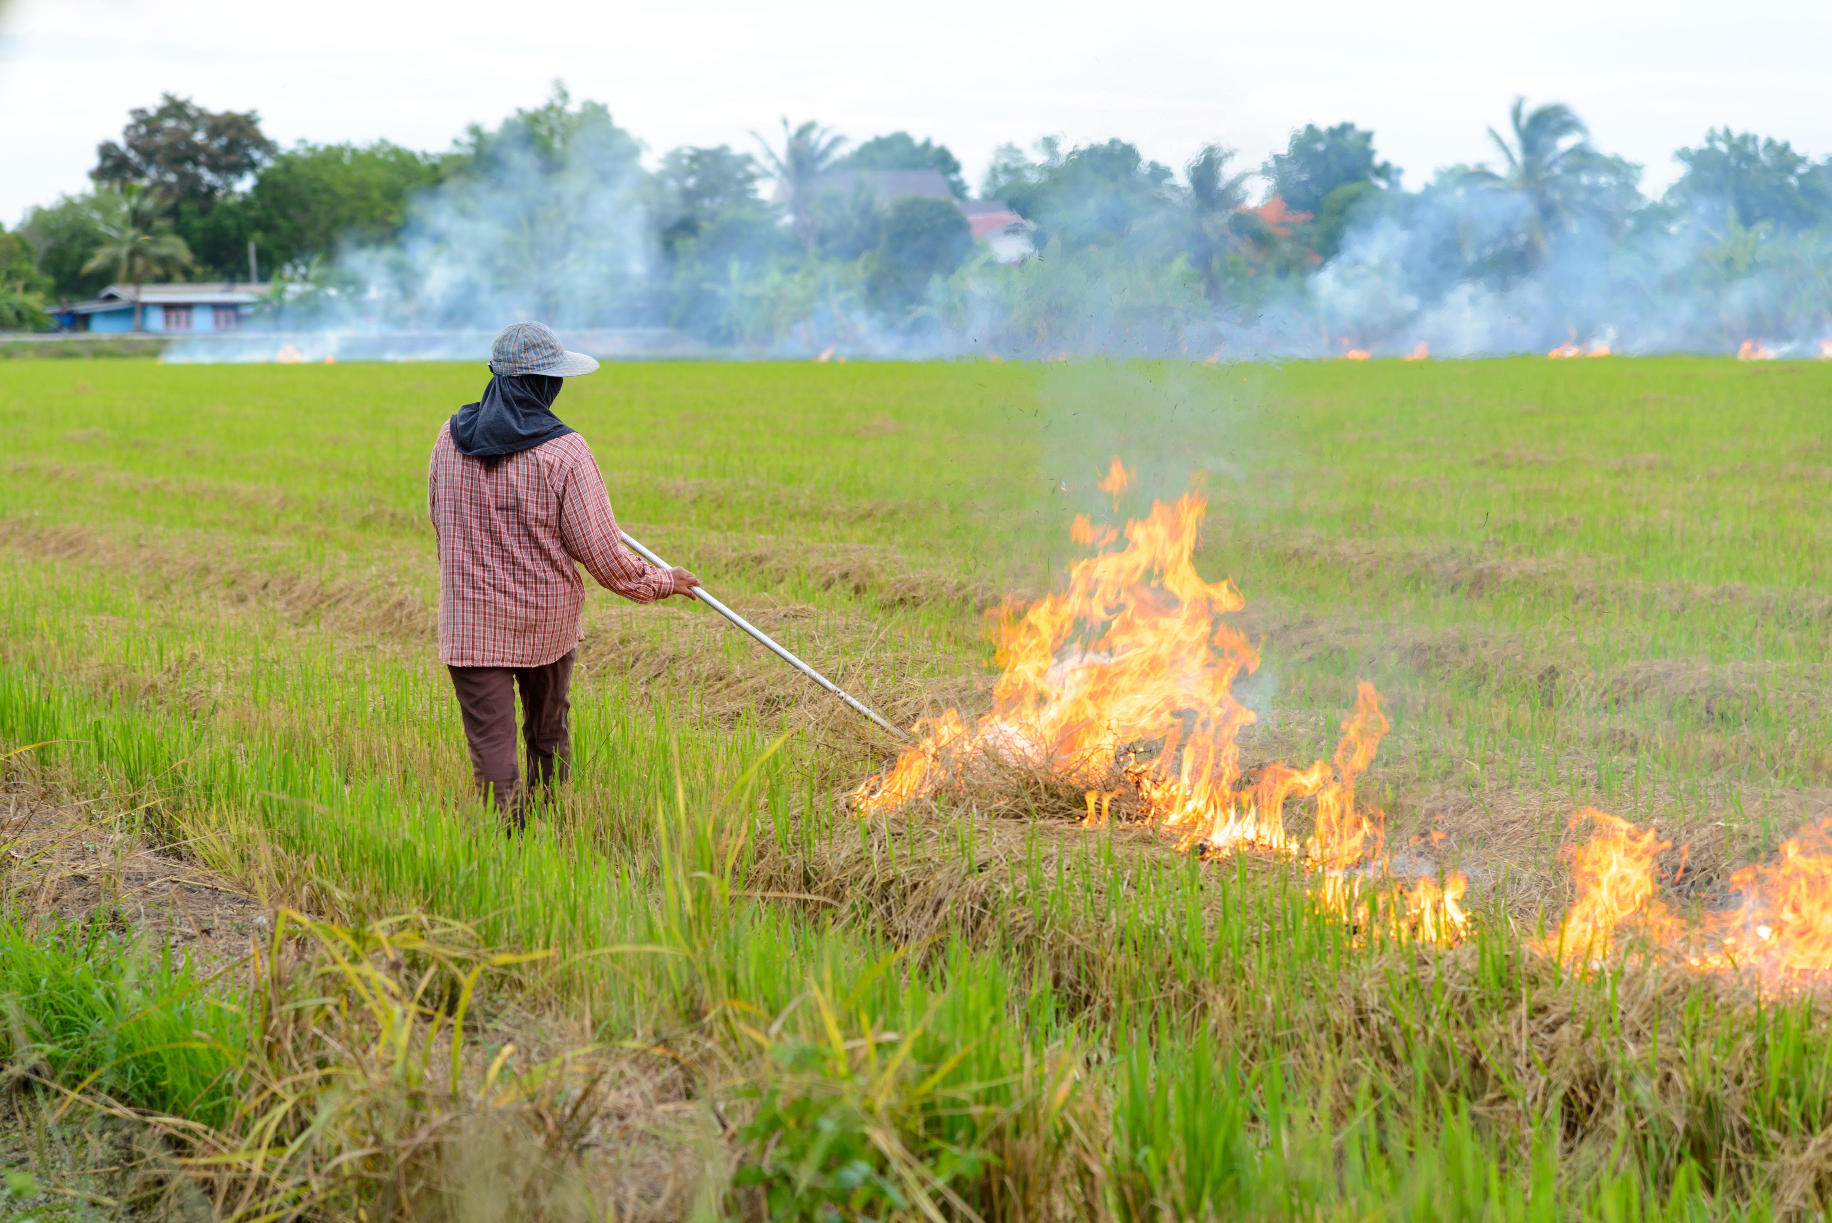
[[[623,546],[592,447],[553,416],[564,379],[595,368],[544,324],[506,328],[491,348],[482,401],[440,427],[427,469],[440,542],[440,661],[458,690],[471,774],[515,831],[526,826],[529,787],[551,793],[568,774],[566,690],[584,635],[584,584],[573,562],[634,602],[692,599],[700,584]],[[517,685],[528,785],[515,767]]]

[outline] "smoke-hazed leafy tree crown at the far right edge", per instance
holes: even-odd
[[[1781,233],[1832,220],[1832,159],[1814,165],[1788,141],[1720,128],[1706,132],[1702,146],[1673,156],[1685,174],[1669,200],[1711,225],[1724,225],[1726,212],[1735,212],[1742,225],[1768,222]]]

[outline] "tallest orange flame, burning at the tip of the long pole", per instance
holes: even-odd
[[[1118,507],[1129,482],[1116,458],[1099,487]],[[918,721],[918,745],[859,785],[856,804],[898,807],[993,760],[1037,767],[1085,789],[1090,826],[1150,824],[1205,855],[1253,848],[1301,857],[1321,871],[1325,904],[1358,925],[1462,937],[1462,877],[1442,886],[1385,881],[1381,815],[1356,804],[1356,776],[1387,732],[1370,685],[1361,685],[1330,762],[1275,763],[1244,780],[1237,736],[1255,716],[1231,688],[1259,654],[1224,619],[1246,602],[1235,584],[1196,573],[1205,505],[1198,489],[1156,502],[1125,525],[1118,547],[1119,531],[1077,516],[1072,535],[1092,555],[1070,568],[1064,590],[1000,617],[991,712],[973,725],[954,709]],[[1315,798],[1315,831],[1297,844],[1284,806],[1301,798]]]

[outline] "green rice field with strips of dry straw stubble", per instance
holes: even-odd
[[[573,784],[507,840],[425,513],[485,377],[0,363],[0,1212],[1825,1218],[1823,996],[1541,939],[1587,807],[1671,842],[1678,912],[1828,815],[1832,364],[564,388],[619,524],[900,725],[987,707],[987,612],[1052,590],[1075,514],[1196,482],[1262,655],[1242,760],[1326,758],[1374,683],[1359,796],[1467,875],[1458,947],[1048,793],[861,817],[889,736],[703,606],[601,590]],[[130,851],[258,921],[174,915]]]

